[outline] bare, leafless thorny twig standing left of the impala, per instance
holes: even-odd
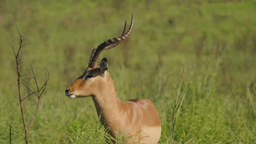
[[[36,75],[34,74],[33,67],[27,61],[28,64],[30,65],[30,70],[31,70],[32,73],[31,73],[31,78],[24,78],[24,76],[27,76],[27,74],[21,74],[22,70],[21,70],[20,67],[21,67],[22,59],[25,56],[25,53],[21,51],[21,48],[24,47],[24,46],[27,46],[31,43],[27,43],[27,44],[22,45],[22,42],[23,42],[22,35],[20,34],[19,29],[17,27],[16,27],[16,29],[17,29],[19,37],[20,37],[19,49],[18,49],[18,52],[15,52],[14,47],[12,47],[12,49],[13,49],[14,57],[15,57],[15,60],[16,60],[16,73],[17,73],[17,76],[18,76],[17,81],[18,81],[18,92],[19,92],[19,100],[20,100],[20,107],[21,107],[21,116],[22,116],[22,121],[23,121],[23,125],[24,125],[25,140],[26,140],[26,144],[27,144],[28,143],[28,131],[30,130],[30,128],[31,128],[31,126],[34,122],[34,119],[36,118],[38,107],[39,107],[39,104],[40,104],[40,98],[41,98],[43,92],[45,91],[45,89],[48,86],[50,74],[49,74],[48,70],[43,69],[44,74],[45,74],[45,79],[44,79],[43,85],[39,86]],[[27,60],[27,58],[26,58],[26,60]],[[30,80],[30,79],[33,80],[33,85],[36,86],[36,90],[33,90],[33,88],[25,85],[25,83],[21,81],[21,80]],[[30,93],[27,94],[25,97],[22,97],[21,86],[24,86],[25,89],[30,91]],[[30,107],[28,107],[28,109],[26,111],[24,111],[24,103],[23,102],[27,98],[31,97],[31,95],[36,95],[37,96],[37,102],[34,103],[33,105],[31,105]],[[34,114],[32,115],[31,119],[28,119],[28,121],[26,121],[25,112],[30,110],[31,107],[34,106],[34,105],[36,105],[36,110],[34,111]],[[27,125],[26,122],[28,122],[29,124]]]

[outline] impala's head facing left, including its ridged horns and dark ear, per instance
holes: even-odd
[[[103,58],[100,62],[100,65],[97,66],[98,57],[101,52],[104,50],[111,49],[118,44],[121,43],[124,39],[126,39],[131,33],[133,26],[133,16],[131,20],[131,25],[127,32],[126,29],[126,21],[124,26],[124,31],[122,35],[118,38],[109,39],[104,41],[102,44],[98,45],[98,47],[91,52],[91,57],[89,61],[88,68],[85,69],[83,75],[78,77],[69,87],[66,89],[66,95],[69,98],[81,98],[94,96],[103,88],[109,86],[113,81],[110,78],[110,75],[107,72],[108,69],[108,61],[107,58]]]

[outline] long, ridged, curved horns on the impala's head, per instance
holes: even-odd
[[[131,19],[131,25],[126,33],[125,33],[126,21],[125,21],[124,31],[120,37],[104,41],[102,44],[98,45],[98,47],[96,49],[92,50],[89,67],[92,69],[95,69],[97,67],[98,57],[100,56],[101,52],[104,50],[111,49],[111,48],[119,45],[121,43],[121,41],[125,40],[131,33],[132,26],[133,26],[133,15],[132,15],[132,19]]]

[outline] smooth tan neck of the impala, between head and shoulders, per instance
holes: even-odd
[[[109,74],[108,76],[109,80],[100,87],[100,91],[92,97],[92,100],[94,100],[102,125],[112,129],[118,123],[121,113],[123,113],[123,103],[117,97],[112,78]]]

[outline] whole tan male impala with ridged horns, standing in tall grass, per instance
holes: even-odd
[[[120,101],[115,92],[114,82],[109,75],[107,58],[97,66],[98,57],[104,50],[117,46],[131,33],[131,25],[118,38],[109,39],[92,50],[88,68],[66,89],[69,98],[92,97],[98,117],[112,136],[125,133],[131,137],[127,143],[158,143],[161,135],[161,122],[152,101],[131,99]]]

